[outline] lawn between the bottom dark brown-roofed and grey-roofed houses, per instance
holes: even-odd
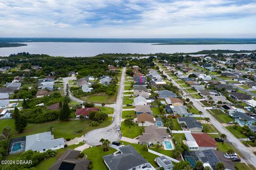
[[[83,150],[83,153],[87,155],[86,159],[90,159],[92,161],[93,169],[108,169],[103,162],[102,156],[113,154],[116,150],[113,148],[109,148],[108,151],[103,151],[102,147],[92,147]]]

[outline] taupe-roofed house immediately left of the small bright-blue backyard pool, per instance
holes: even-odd
[[[139,136],[139,143],[140,145],[146,144],[148,146],[163,145],[163,141],[167,139],[167,136],[166,129],[150,125],[145,128],[145,133]]]

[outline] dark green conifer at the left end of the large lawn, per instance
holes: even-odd
[[[12,117],[14,118],[15,130],[22,133],[28,124],[25,116],[20,115],[19,109],[15,107]]]

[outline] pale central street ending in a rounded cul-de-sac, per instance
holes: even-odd
[[[123,108],[123,94],[124,94],[124,80],[125,80],[125,70],[122,70],[122,77],[120,81],[120,86],[118,89],[116,104],[112,105],[114,107],[114,117],[111,125],[95,129],[85,134],[85,141],[91,146],[100,145],[99,142],[101,138],[108,139],[111,142],[118,141],[121,139],[121,133],[116,130],[117,125],[121,125],[121,113]]]

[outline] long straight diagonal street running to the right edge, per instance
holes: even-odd
[[[163,71],[163,70],[161,69],[161,67],[159,67],[159,70],[160,70],[160,71]],[[195,106],[199,111],[202,111],[202,112],[203,112],[203,115],[204,115],[205,117],[210,117],[210,119],[211,119],[210,122],[215,126],[215,128],[218,129],[218,131],[219,131],[220,133],[224,133],[224,134],[227,135],[227,140],[228,140],[229,142],[232,142],[232,145],[235,146],[235,148],[236,148],[239,152],[241,152],[241,154],[243,154],[243,156],[244,156],[243,158],[245,159],[245,161],[247,161],[248,163],[250,163],[250,164],[252,164],[254,167],[256,167],[256,156],[253,154],[253,152],[251,152],[251,150],[249,150],[247,147],[245,147],[245,146],[243,145],[243,143],[241,143],[241,141],[239,141],[237,138],[235,138],[233,134],[231,134],[225,127],[223,127],[220,122],[218,122],[209,112],[207,112],[207,111],[203,108],[202,104],[199,103],[199,101],[196,101],[194,98],[192,98],[192,97],[189,95],[189,93],[187,93],[184,89],[182,89],[182,88],[179,86],[179,84],[178,84],[177,82],[175,82],[173,79],[171,79],[171,77],[170,77],[168,74],[166,74],[165,71],[163,71],[163,74],[166,75],[166,76],[167,76],[167,79],[168,79],[168,80],[171,80],[171,82],[172,82],[175,86],[177,86],[177,87],[180,89],[180,91],[183,92],[183,96],[186,95],[186,96],[190,99],[190,101],[193,102],[194,106]]]

